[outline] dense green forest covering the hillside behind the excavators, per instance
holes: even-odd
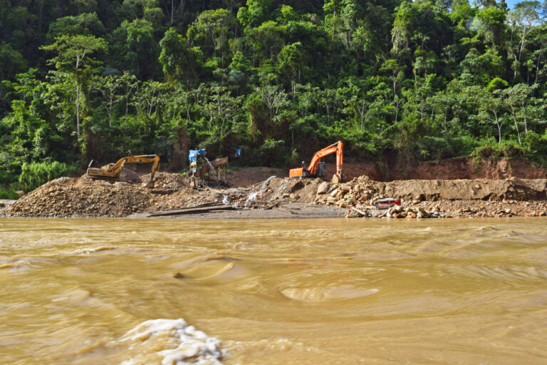
[[[546,18],[547,1],[0,0],[0,187],[129,154],[182,170],[191,148],[288,168],[336,140],[379,165],[547,163]]]

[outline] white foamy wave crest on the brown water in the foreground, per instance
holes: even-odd
[[[222,365],[224,355],[218,339],[188,326],[182,318],[150,319],[128,331],[120,341],[128,341],[130,349],[137,350],[122,365],[150,364],[154,358],[161,359],[162,365]]]

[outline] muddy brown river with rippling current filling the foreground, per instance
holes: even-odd
[[[547,220],[0,220],[0,364],[546,364]]]

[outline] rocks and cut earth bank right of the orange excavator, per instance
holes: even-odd
[[[313,204],[348,208],[346,217],[444,218],[547,216],[547,180],[404,180],[382,183],[367,176],[321,183]],[[397,198],[401,206],[377,210]],[[512,197],[508,199],[508,197]]]

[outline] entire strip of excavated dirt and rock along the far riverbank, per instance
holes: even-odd
[[[144,182],[148,178],[148,175],[143,175],[141,180]],[[236,212],[229,213],[234,217],[238,217],[237,214],[240,217],[346,215],[420,218],[547,215],[546,179],[396,180],[386,183],[363,175],[347,183],[330,184],[320,179],[271,177],[246,187],[193,190],[181,175],[159,173],[155,186],[148,189],[140,184],[61,178],[21,197],[0,210],[0,215],[125,217],[207,203],[235,208]],[[376,210],[375,201],[385,197],[402,200],[401,207]],[[318,210],[319,206],[332,211]],[[264,213],[264,210],[276,214]]]

